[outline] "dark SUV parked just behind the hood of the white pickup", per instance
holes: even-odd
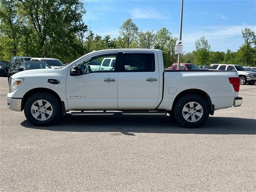
[[[40,62],[40,61],[25,61],[25,60],[16,61],[8,69],[8,82],[9,82],[10,76],[20,71],[31,70],[31,69],[50,69],[50,68],[51,67],[47,63]]]

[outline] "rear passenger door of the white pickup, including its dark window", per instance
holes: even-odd
[[[118,108],[152,109],[159,97],[158,59],[154,52],[123,52],[118,76]]]

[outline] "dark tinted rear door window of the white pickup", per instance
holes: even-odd
[[[154,72],[154,54],[132,53],[124,54],[124,62],[121,71],[125,72]]]

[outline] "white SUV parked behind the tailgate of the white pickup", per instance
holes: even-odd
[[[237,71],[240,78],[240,84],[244,85],[246,83],[252,85],[256,82],[256,73],[251,71],[246,71],[240,65],[233,64],[211,64],[210,70],[227,70],[227,71]]]

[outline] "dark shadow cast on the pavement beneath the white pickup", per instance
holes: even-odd
[[[200,128],[182,128],[170,116],[86,116],[67,114],[52,126],[34,126],[27,120],[21,126],[32,129],[65,132],[118,132],[165,134],[256,134],[256,120],[232,117],[212,117]]]

